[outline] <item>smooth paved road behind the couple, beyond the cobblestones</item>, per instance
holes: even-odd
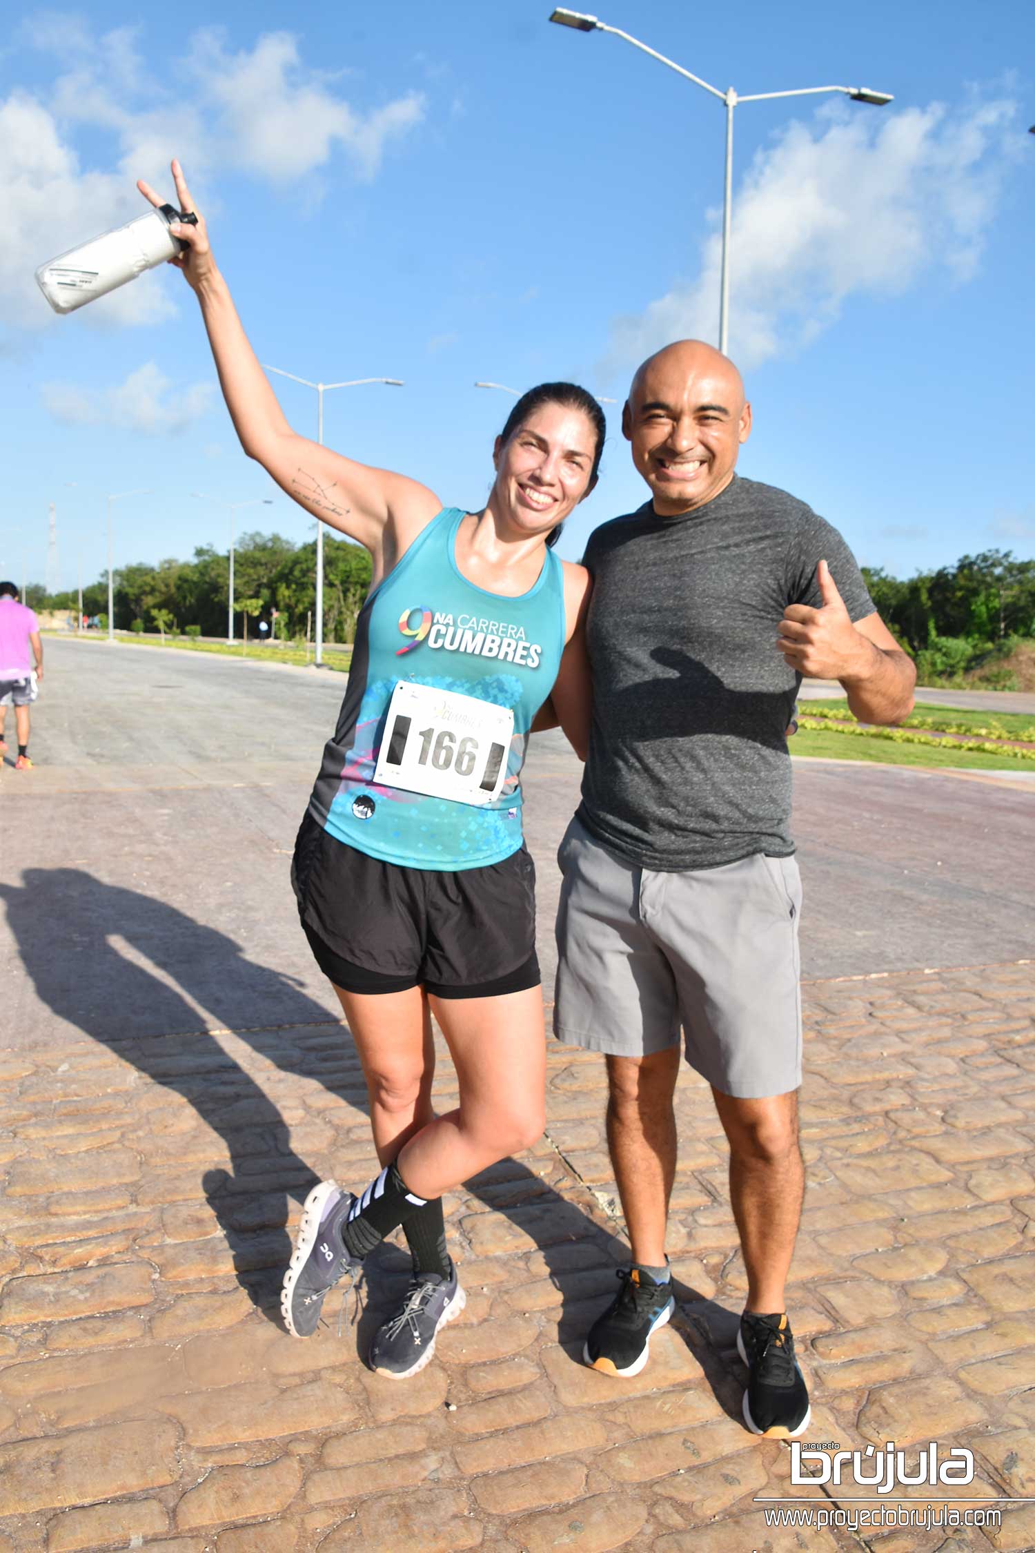
[[[47,643],[33,772],[0,775],[0,1047],[337,1016],[289,885],[344,677],[175,649]],[[9,719],[11,721],[11,719]],[[546,995],[554,853],[580,767],[532,741]],[[1035,954],[1035,787],[796,761],[805,977]]]

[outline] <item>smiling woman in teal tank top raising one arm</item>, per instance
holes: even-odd
[[[172,175],[180,210],[191,213],[177,162]],[[146,183],[138,188],[161,203]],[[310,1336],[327,1289],[402,1225],[413,1281],[371,1350],[376,1370],[402,1379],[424,1368],[438,1328],[466,1303],[445,1249],[442,1193],[543,1131],[520,772],[551,691],[566,727],[585,722],[588,575],[548,547],[596,485],[604,415],[573,384],[531,390],[497,438],[486,508],[442,508],[427,486],[292,432],[205,222],[172,231],[186,248],[171,262],[197,294],[245,453],[372,558],[349,685],[292,882],[355,1041],[383,1168],[360,1196],[334,1180],[309,1193],[281,1309],[290,1332]],[[459,1106],[444,1117],[431,1110],[431,1014],[459,1081]]]

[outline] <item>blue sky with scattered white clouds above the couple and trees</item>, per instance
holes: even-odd
[[[1035,553],[1030,453],[1035,22],[1015,0],[866,6],[601,0],[720,89],[863,84],[736,120],[731,354],[754,432],[740,471],[911,575],[992,545]],[[549,26],[549,0],[39,11],[0,51],[0,575],[59,584],[115,558],[310,533],[239,452],[192,294],[163,267],[74,315],[43,259],[169,188],[180,155],[259,359],[393,376],[326,398],[326,439],[478,506],[517,388],[622,399],[666,339],[717,334],[722,104],[627,43]],[[213,19],[217,19],[216,22]],[[736,26],[731,26],[731,19]],[[315,394],[275,379],[292,424]],[[597,492],[562,554],[646,495],[608,405]],[[76,481],[70,489],[67,481]]]

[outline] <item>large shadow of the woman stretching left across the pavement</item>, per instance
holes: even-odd
[[[239,1283],[256,1305],[275,1306],[270,1280],[256,1277],[256,1258],[268,1269],[287,1264],[287,1196],[301,1200],[317,1177],[293,1152],[273,1101],[214,1036],[199,1028],[203,1016],[186,997],[219,1017],[219,1006],[213,1006],[219,999],[211,995],[216,961],[225,983],[234,985],[237,1006],[242,983],[245,997],[251,994],[256,1020],[272,988],[279,994],[278,1013],[287,997],[290,1023],[326,1025],[327,1009],[298,991],[290,977],[250,961],[225,933],[82,870],[26,868],[20,888],[0,885],[0,899],[40,1000],[155,1084],[188,1100],[223,1140],[228,1168],[205,1171],[202,1188],[233,1252]],[[130,960],[113,940],[149,960],[182,991]],[[137,1027],[135,1037],[113,1036],[113,1027],[126,1030],[127,1016]],[[189,1058],[177,1036],[189,1039]],[[248,1033],[241,1039],[250,1041]],[[290,1061],[278,1065],[292,1067]],[[175,1152],[169,1157],[171,1171],[189,1163],[188,1157],[178,1165]]]

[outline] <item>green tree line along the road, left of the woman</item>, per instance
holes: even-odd
[[[362,545],[324,534],[323,623],[326,641],[352,641],[355,618],[371,584],[371,558]],[[230,559],[211,545],[199,545],[192,561],[138,561],[115,572],[115,629],[200,629],[203,637],[227,634]],[[315,609],[317,542],[295,545],[282,534],[242,534],[234,547],[234,634],[242,635],[242,606],[272,624],[282,640],[306,635]],[[26,589],[33,609],[71,610],[74,592],[48,595],[39,584]],[[256,610],[254,604],[259,603]],[[107,575],[82,590],[85,615],[107,610]],[[273,618],[276,610],[276,618]],[[137,626],[140,629],[140,626]],[[251,626],[248,635],[254,634]]]

